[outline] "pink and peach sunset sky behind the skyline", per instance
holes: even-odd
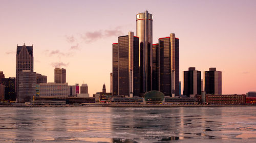
[[[256,91],[256,1],[0,1],[0,71],[15,77],[16,46],[34,45],[34,71],[54,82],[61,60],[69,85],[110,92],[112,43],[153,14],[153,44],[180,39],[180,81],[188,67],[222,71],[222,94]]]

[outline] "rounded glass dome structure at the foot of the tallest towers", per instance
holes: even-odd
[[[144,101],[147,104],[161,104],[164,100],[164,94],[160,91],[150,91],[144,94]]]

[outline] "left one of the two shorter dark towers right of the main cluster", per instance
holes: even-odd
[[[188,97],[201,95],[201,71],[196,71],[194,67],[183,71],[183,95]]]

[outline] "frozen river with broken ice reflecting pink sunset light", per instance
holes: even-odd
[[[256,107],[0,107],[0,142],[256,142]]]

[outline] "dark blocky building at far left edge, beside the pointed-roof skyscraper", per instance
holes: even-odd
[[[16,100],[15,77],[2,78],[0,84],[5,85],[5,100]]]

